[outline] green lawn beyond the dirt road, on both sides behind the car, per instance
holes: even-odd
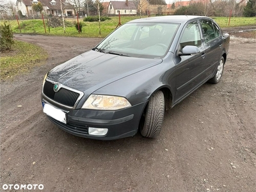
[[[138,16],[125,16],[121,17],[121,23],[124,24],[129,20],[138,19]],[[231,17],[230,25],[228,26],[229,18],[228,17],[214,17],[214,20],[220,25],[221,28],[228,27],[237,27],[237,26],[252,26],[256,24],[256,17]],[[64,29],[62,27],[50,28],[47,27],[47,20],[45,19],[46,31],[44,29],[44,24],[42,20],[19,20],[21,33],[37,33],[42,35],[61,35],[61,36],[78,36],[78,37],[105,37],[113,30],[115,30],[118,25],[118,17],[111,17],[111,20],[105,20],[104,22],[100,22],[101,35],[99,35],[99,24],[98,22],[84,22],[83,18],[79,19],[79,22],[83,24],[82,32],[79,34],[74,26],[74,22],[77,21],[76,18],[68,18],[66,19],[73,26],[66,27],[66,33],[64,33]],[[1,21],[0,23],[2,23]],[[17,20],[9,21],[13,33],[20,33],[19,26],[17,24]]]

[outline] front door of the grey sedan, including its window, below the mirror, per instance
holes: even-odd
[[[193,45],[200,50],[199,54],[189,56],[176,56],[176,93],[175,102],[179,102],[186,95],[192,92],[198,81],[205,79],[205,47],[202,44],[199,24],[196,21],[186,25],[180,38],[178,50],[182,50],[186,45]]]

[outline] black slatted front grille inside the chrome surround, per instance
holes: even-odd
[[[80,94],[66,88],[60,88],[58,92],[54,92],[53,86],[51,82],[45,81],[44,95],[65,106],[74,107]]]

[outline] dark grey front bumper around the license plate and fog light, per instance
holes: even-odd
[[[45,99],[42,101],[51,104]],[[55,120],[50,116],[48,117],[54,124],[70,134],[95,140],[116,140],[134,136],[138,132],[141,114],[146,104],[147,102],[143,102],[131,108],[117,111],[61,109],[67,113],[67,124]],[[54,104],[51,105],[54,106]],[[54,107],[58,108],[56,106]],[[107,128],[108,132],[104,136],[94,136],[88,134],[89,127]]]

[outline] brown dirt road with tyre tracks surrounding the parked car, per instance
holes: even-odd
[[[31,191],[256,191],[256,41],[232,36],[219,84],[204,84],[165,115],[159,138],[72,136],[42,112],[42,79],[99,38],[15,35],[49,59],[1,83],[1,189]],[[23,190],[17,190],[23,191]]]

